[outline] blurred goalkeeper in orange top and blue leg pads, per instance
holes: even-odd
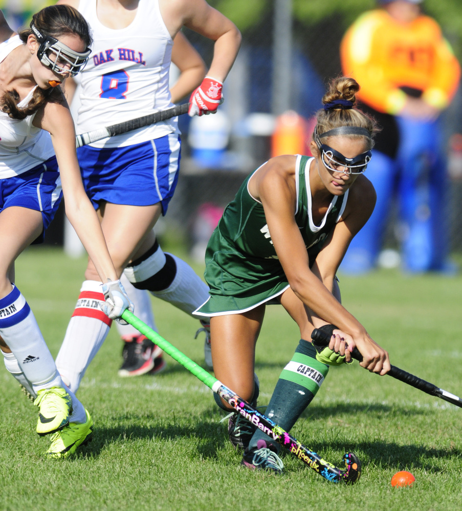
[[[341,43],[343,73],[359,82],[360,107],[382,127],[366,171],[377,205],[345,255],[341,269],[348,273],[376,265],[395,191],[404,269],[454,271],[438,118],[455,94],[460,66],[421,1],[379,0],[380,8],[362,14]]]

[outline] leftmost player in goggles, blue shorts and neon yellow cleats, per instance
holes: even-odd
[[[67,6],[42,9],[19,35],[5,26],[3,15],[2,21],[7,39],[0,44],[0,346],[9,372],[35,398],[37,433],[52,434],[48,454],[67,457],[90,439],[93,421],[62,383],[34,314],[14,284],[14,261],[27,246],[43,241],[62,187],[67,216],[104,283],[101,313],[118,318],[129,307],[82,186],[74,124],[58,86],[85,65],[91,35],[85,19]]]

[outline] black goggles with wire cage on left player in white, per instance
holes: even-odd
[[[75,52],[58,39],[41,34],[32,23],[31,29],[40,43],[37,57],[43,65],[59,75],[75,76],[82,71],[92,52],[90,48],[83,53]]]

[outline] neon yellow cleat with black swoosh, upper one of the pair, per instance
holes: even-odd
[[[52,387],[39,390],[34,405],[39,407],[37,433],[40,436],[54,433],[69,424],[72,399],[63,388]]]

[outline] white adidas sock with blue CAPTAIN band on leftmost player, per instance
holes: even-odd
[[[61,379],[59,382],[56,380],[55,361],[34,313],[14,285],[13,290],[0,299],[0,336],[13,353],[19,371],[29,380],[35,392],[41,388],[62,386]]]

